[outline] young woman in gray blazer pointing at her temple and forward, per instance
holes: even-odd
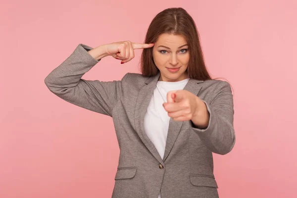
[[[143,49],[142,74],[81,78],[105,56],[130,61],[134,49]],[[112,117],[120,148],[112,198],[218,198],[212,152],[234,147],[233,95],[209,76],[183,8],[158,13],[145,44],[79,44],[45,83],[61,99]]]

